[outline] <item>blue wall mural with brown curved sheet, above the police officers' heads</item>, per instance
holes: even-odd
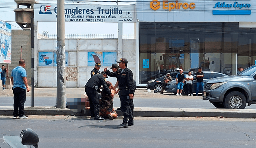
[[[102,66],[111,66],[116,63],[116,52],[88,52],[88,66],[95,66],[100,62]]]

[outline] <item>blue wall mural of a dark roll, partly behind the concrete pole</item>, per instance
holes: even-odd
[[[68,66],[68,52],[66,54],[66,66]],[[55,52],[38,52],[38,66],[57,66],[57,54]]]

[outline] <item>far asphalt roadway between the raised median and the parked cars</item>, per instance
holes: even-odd
[[[209,101],[202,100],[199,97],[166,95],[168,97],[134,97],[135,107],[164,107],[164,108],[198,108],[198,109],[216,109]],[[202,96],[201,96],[202,97]],[[35,97],[35,107],[53,107],[56,105],[56,97]],[[0,106],[13,106],[13,97],[0,98]],[[27,97],[25,107],[31,107],[31,97]],[[120,99],[114,97],[114,107],[120,107]],[[252,104],[246,109],[256,109]]]

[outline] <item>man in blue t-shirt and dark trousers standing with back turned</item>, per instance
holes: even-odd
[[[13,118],[28,118],[24,115],[24,103],[26,101],[26,90],[29,92],[24,59],[19,61],[19,65],[12,70],[12,90],[13,90]],[[18,110],[19,109],[19,110]]]

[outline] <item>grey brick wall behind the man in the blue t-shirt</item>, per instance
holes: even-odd
[[[31,85],[31,30],[12,30],[12,63],[8,64],[8,76],[11,77],[12,69],[18,66],[20,46],[22,46],[22,59],[26,61],[28,85]]]

